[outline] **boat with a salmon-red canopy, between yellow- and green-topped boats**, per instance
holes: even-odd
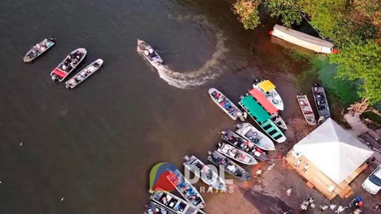
[[[249,91],[250,95],[270,114],[270,119],[282,129],[287,129],[285,121],[278,114],[278,109],[273,105],[258,89],[254,88]]]

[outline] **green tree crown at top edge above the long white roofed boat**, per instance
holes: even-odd
[[[272,17],[282,17],[282,22],[287,28],[291,24],[300,24],[302,16],[297,8],[289,0],[266,0],[267,7],[270,10]]]

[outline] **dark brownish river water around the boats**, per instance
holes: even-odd
[[[283,117],[300,117],[293,82],[301,67],[268,33],[278,20],[244,30],[230,1],[0,3],[1,214],[141,213],[153,165],[181,167],[187,154],[206,161],[217,133],[235,124],[209,99],[211,86],[237,102],[254,77],[270,78]],[[51,35],[55,47],[22,62]],[[137,38],[168,70],[154,71],[138,55]],[[88,50],[81,68],[104,64],[69,91],[49,73],[80,47]]]

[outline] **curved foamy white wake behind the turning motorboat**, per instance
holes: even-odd
[[[227,52],[225,48],[225,40],[222,31],[215,27],[213,24],[209,23],[206,17],[198,16],[181,16],[178,20],[192,19],[193,21],[198,21],[201,25],[206,25],[210,30],[215,34],[216,38],[216,48],[214,53],[211,55],[211,58],[204,63],[201,68],[194,71],[186,71],[184,73],[179,73],[176,71],[170,70],[167,66],[155,66],[159,76],[164,79],[168,84],[183,88],[189,89],[196,86],[205,84],[206,82],[216,78],[223,71],[223,66],[219,66],[219,62],[224,58],[224,53]]]

